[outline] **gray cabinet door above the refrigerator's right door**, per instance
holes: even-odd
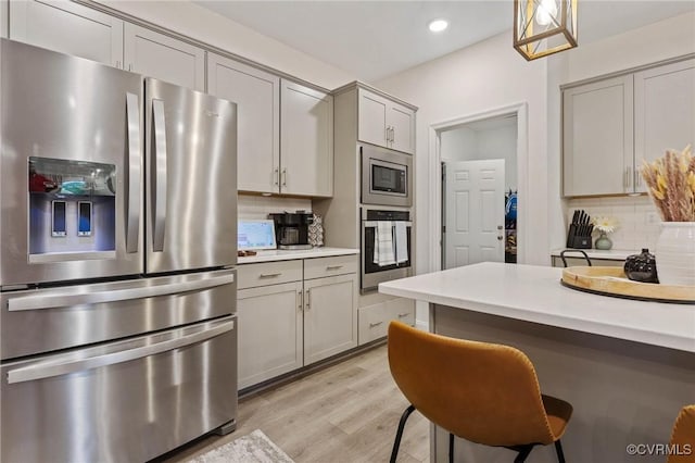
[[[135,24],[125,25],[125,70],[205,90],[203,49]]]

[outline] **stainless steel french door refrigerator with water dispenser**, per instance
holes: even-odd
[[[4,39],[0,85],[0,461],[232,430],[236,104]]]

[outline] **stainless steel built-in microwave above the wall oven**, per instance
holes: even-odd
[[[370,145],[362,153],[362,203],[413,205],[413,157]]]

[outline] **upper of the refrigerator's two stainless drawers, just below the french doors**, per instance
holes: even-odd
[[[0,356],[17,359],[231,314],[236,272],[0,293]]]

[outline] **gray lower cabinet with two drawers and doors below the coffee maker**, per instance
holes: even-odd
[[[357,347],[357,256],[241,264],[239,389]]]

